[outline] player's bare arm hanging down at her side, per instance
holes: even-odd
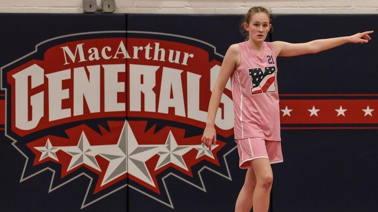
[[[233,44],[228,48],[226,55],[224,55],[222,66],[220,67],[218,78],[214,85],[213,92],[210,97],[209,108],[206,119],[206,128],[201,138],[209,150],[211,146],[216,144],[216,130],[215,118],[218,110],[220,98],[222,96],[224,87],[234,70],[237,69],[240,63],[240,49],[238,44]]]

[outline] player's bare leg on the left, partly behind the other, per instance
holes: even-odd
[[[253,203],[253,191],[256,186],[256,176],[252,168],[247,169],[244,185],[236,200],[235,212],[250,212]]]

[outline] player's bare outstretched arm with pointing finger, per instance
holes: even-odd
[[[356,33],[346,37],[336,37],[328,39],[313,40],[307,43],[287,43],[282,41],[272,42],[274,51],[277,56],[297,56],[307,53],[318,53],[324,50],[332,49],[345,43],[368,43],[372,38],[369,34],[374,31]]]

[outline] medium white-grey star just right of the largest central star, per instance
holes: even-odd
[[[185,170],[189,170],[183,155],[193,149],[193,146],[177,145],[176,139],[173,137],[171,131],[169,131],[165,145],[159,148],[160,158],[156,164],[155,170],[158,170],[162,166],[173,163]]]

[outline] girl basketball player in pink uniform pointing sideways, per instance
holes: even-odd
[[[241,30],[246,41],[227,50],[210,98],[202,142],[211,149],[216,144],[214,121],[220,97],[231,77],[234,101],[234,133],[239,166],[247,169],[244,185],[236,200],[235,212],[268,212],[273,181],[271,163],[282,162],[280,112],[275,81],[277,56],[318,53],[345,43],[368,43],[373,31],[346,37],[292,44],[264,42],[271,29],[270,12],[252,7],[244,16]]]

